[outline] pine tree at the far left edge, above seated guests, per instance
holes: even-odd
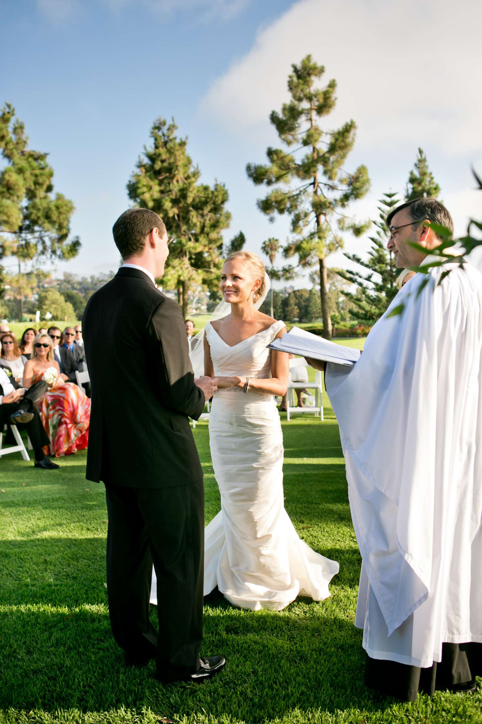
[[[25,125],[8,103],[0,113],[0,150],[5,162],[0,172],[0,257],[16,256],[21,275],[22,261],[77,256],[79,238],[69,240],[74,204],[61,193],[53,196],[48,153],[28,148]]]

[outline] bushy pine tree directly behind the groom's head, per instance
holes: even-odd
[[[127,184],[129,198],[163,219],[168,234],[176,237],[169,249],[163,285],[178,290],[184,317],[188,293],[202,284],[219,286],[223,266],[223,237],[231,214],[225,210],[228,191],[215,182],[199,181],[201,172],[187,153],[187,139],[176,136],[174,121],[158,118],[150,132],[153,145],[144,148],[137,170]],[[239,235],[238,235],[239,241]],[[243,237],[244,239],[244,237]]]

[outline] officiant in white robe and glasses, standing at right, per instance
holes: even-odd
[[[439,245],[426,221],[453,229],[435,199],[388,216],[400,268]],[[363,559],[365,681],[406,701],[473,691],[482,674],[482,275],[459,258],[424,279],[400,290],[353,368],[325,375]]]

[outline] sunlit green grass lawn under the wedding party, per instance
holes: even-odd
[[[164,687],[152,678],[153,663],[124,664],[108,620],[104,487],[85,481],[86,453],[52,472],[18,453],[1,458],[0,723],[481,723],[480,691],[400,704],[363,686],[353,626],[360,556],[337,424],[326,397],[324,404],[324,422],[282,416],[284,490],[298,534],[340,562],[332,595],[299,598],[279,613],[207,597],[202,652],[222,652],[228,665],[202,686]],[[207,421],[194,435],[207,523],[220,508]]]

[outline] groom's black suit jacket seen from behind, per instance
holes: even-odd
[[[188,416],[194,384],[181,309],[137,269],[121,268],[82,319],[92,387],[87,480],[165,488],[202,480]]]

